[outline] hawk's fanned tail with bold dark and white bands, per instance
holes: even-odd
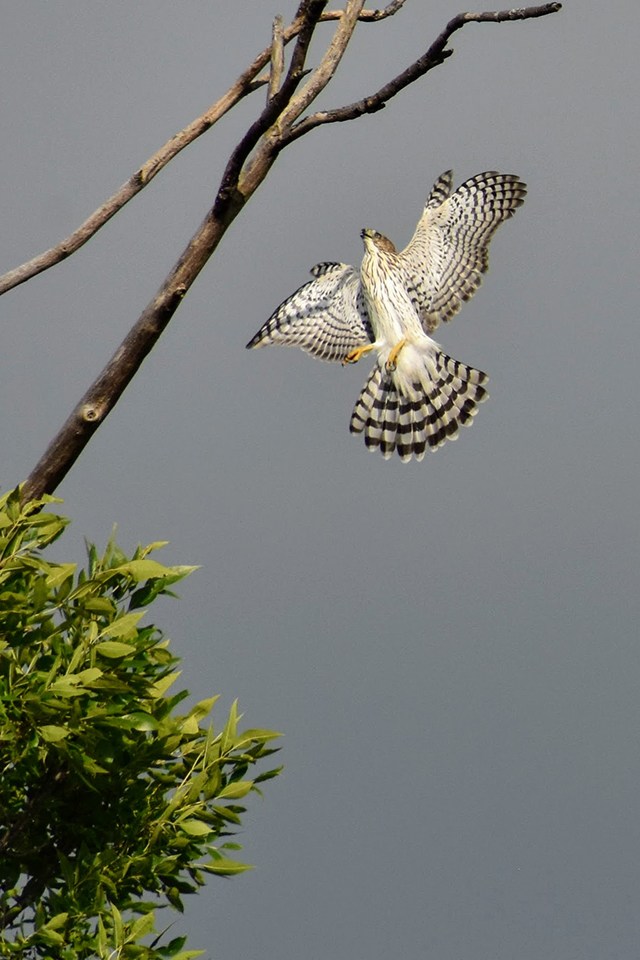
[[[438,351],[425,379],[413,383],[409,395],[377,364],[351,415],[351,433],[364,432],[367,448],[379,449],[385,460],[395,450],[403,461],[422,460],[427,447],[455,440],[459,424],[470,426],[477,405],[487,399],[482,384],[489,378]]]

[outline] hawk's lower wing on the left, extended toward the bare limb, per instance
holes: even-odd
[[[346,263],[318,263],[313,280],[280,304],[247,349],[280,343],[320,360],[344,360],[373,342],[360,274]]]

